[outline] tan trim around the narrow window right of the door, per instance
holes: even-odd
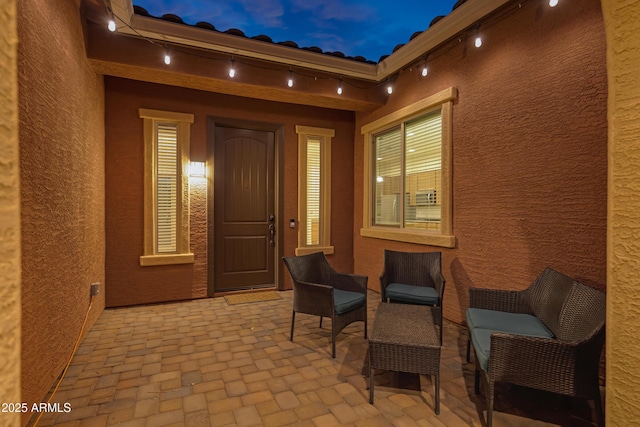
[[[306,255],[313,252],[333,254],[331,246],[331,138],[335,136],[334,129],[316,128],[310,126],[296,126],[298,134],[298,247],[296,255]],[[309,136],[322,137],[321,170],[320,170],[320,244],[308,246],[306,244],[307,227],[307,138]]]

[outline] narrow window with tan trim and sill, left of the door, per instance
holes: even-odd
[[[189,237],[193,114],[139,110],[144,120],[144,254],[140,265],[193,263]]]

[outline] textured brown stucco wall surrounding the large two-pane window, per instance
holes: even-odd
[[[515,5],[517,6],[517,5]],[[387,105],[356,122],[355,271],[382,269],[383,249],[441,250],[445,317],[461,322],[469,287],[524,288],[550,266],[605,286],[607,80],[597,0],[527,2],[405,70]],[[444,88],[453,107],[454,249],[363,238],[363,125]]]

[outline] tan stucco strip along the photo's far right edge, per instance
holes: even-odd
[[[602,2],[609,73],[607,407],[610,427],[640,423],[640,2]]]

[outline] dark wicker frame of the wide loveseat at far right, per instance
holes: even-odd
[[[593,399],[598,425],[604,426],[599,369],[605,294],[550,268],[522,291],[469,291],[467,327],[475,353],[475,392],[480,393],[482,376],[487,427],[491,427],[496,382]],[[472,309],[488,316],[474,318]],[[527,319],[541,321],[550,336],[513,330],[526,329]]]

